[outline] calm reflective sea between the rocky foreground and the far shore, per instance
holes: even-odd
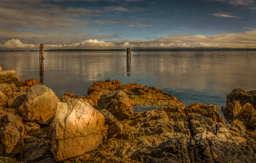
[[[93,81],[117,79],[159,87],[181,101],[225,106],[233,89],[256,89],[256,52],[134,52],[127,71],[126,52],[45,52],[40,77],[39,52],[0,52],[3,70],[21,79],[41,79],[59,98],[65,92],[87,96]],[[150,109],[146,107],[144,109]]]

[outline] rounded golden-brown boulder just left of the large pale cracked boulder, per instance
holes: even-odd
[[[58,97],[47,86],[36,85],[26,94],[26,99],[18,108],[23,120],[47,124],[53,120]]]

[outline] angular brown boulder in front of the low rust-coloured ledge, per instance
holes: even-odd
[[[97,102],[97,110],[106,109],[117,118],[117,120],[128,119],[133,116],[133,107],[129,97],[124,91],[112,91],[105,94]]]

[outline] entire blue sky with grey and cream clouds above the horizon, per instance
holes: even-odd
[[[0,50],[256,48],[256,0],[1,0]]]

